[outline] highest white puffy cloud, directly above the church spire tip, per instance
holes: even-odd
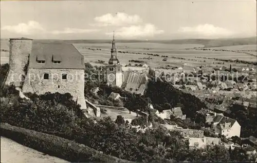
[[[117,12],[115,15],[107,13],[105,15],[95,17],[95,23],[91,26],[123,26],[138,24],[142,22],[142,19],[138,15],[128,15],[123,12]]]

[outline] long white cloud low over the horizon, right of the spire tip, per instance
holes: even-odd
[[[124,38],[152,37],[156,34],[163,33],[163,30],[157,29],[153,24],[137,25],[122,27],[115,32],[115,35]],[[106,33],[112,35],[113,33]]]

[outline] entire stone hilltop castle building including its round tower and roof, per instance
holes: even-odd
[[[70,93],[86,109],[84,67],[84,56],[71,44],[11,38],[5,84],[36,94]]]

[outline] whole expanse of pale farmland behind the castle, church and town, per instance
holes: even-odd
[[[244,38],[246,39],[246,38]],[[240,40],[244,40],[243,38]],[[251,42],[252,38],[249,38]],[[238,52],[231,52],[231,51],[203,51],[203,50],[195,50],[192,48],[201,48],[204,47],[207,39],[197,39],[196,42],[195,39],[188,39],[185,42],[181,42],[181,44],[178,44],[179,41],[177,40],[170,40],[169,44],[167,42],[159,41],[158,43],[145,43],[145,42],[130,42],[119,43],[119,40],[116,40],[116,47],[117,47],[117,56],[120,60],[121,65],[125,66],[129,64],[128,60],[142,60],[144,63],[146,63],[148,66],[152,68],[161,68],[161,67],[167,67],[167,66],[173,66],[173,67],[183,67],[184,71],[192,71],[193,68],[203,66],[203,68],[207,69],[213,69],[213,67],[222,67],[227,66],[229,67],[230,64],[233,65],[235,68],[239,67],[252,67],[252,65],[246,65],[241,63],[224,63],[219,62],[218,60],[214,59],[203,59],[203,58],[196,58],[196,57],[208,57],[208,58],[219,58],[219,59],[239,59],[239,60],[246,60],[250,62],[256,62],[256,57],[245,54],[245,53],[238,53]],[[225,42],[229,39],[218,39],[218,43]],[[247,40],[247,39],[246,39]],[[35,42],[48,42],[48,40],[35,40]],[[90,40],[90,43],[79,43],[74,44],[74,46],[78,49],[78,51],[84,55],[85,62],[89,62],[93,65],[101,65],[97,64],[98,60],[103,60],[105,64],[108,63],[110,53],[111,53],[111,40],[108,40],[108,42],[103,40]],[[212,40],[213,41],[213,40]],[[62,42],[62,40],[51,40],[51,42]],[[65,41],[65,42],[72,42],[71,40]],[[85,42],[85,40],[77,40],[73,41],[75,43],[77,42]],[[163,42],[163,43],[162,43]],[[177,44],[171,44],[172,42],[175,42]],[[189,43],[189,44],[184,44]],[[195,44],[198,43],[198,44]],[[208,43],[210,43],[210,40],[208,40]],[[214,42],[214,43],[217,43]],[[213,43],[213,46],[215,45]],[[238,41],[238,44],[241,43]],[[249,44],[250,44],[249,43]],[[1,40],[1,64],[8,63],[9,62],[9,52],[6,50],[9,50],[8,45],[8,39]],[[215,47],[211,49],[217,49],[217,50],[255,50],[255,45],[236,45],[236,46],[224,46],[224,47]],[[5,51],[3,51],[4,49]],[[250,52],[249,52],[250,53]],[[255,54],[255,52],[252,52]],[[156,55],[156,56],[154,56]],[[157,56],[159,55],[159,56]],[[162,61],[163,57],[162,55],[168,56],[167,61]],[[152,59],[146,59],[148,57],[151,57]],[[182,59],[181,59],[182,58]],[[131,64],[137,64],[137,63],[131,63]],[[137,69],[141,70],[144,68],[141,67],[123,67],[123,70],[127,69]],[[164,70],[165,72],[175,72],[176,70],[166,70],[166,69],[160,69]]]

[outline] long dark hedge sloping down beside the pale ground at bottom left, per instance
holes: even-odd
[[[1,136],[71,162],[127,162],[58,136],[1,123]]]

